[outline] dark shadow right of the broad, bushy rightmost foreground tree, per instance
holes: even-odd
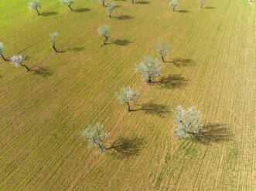
[[[230,135],[230,129],[223,123],[208,123],[203,127],[200,136],[194,136],[192,140],[203,144],[227,142],[232,141],[232,135]]]

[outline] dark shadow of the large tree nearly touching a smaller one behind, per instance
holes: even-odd
[[[161,88],[177,89],[181,88],[188,82],[188,79],[183,78],[180,74],[162,76],[159,81],[152,82],[160,85]]]

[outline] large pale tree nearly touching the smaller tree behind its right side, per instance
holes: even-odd
[[[160,75],[161,65],[158,59],[153,59],[152,56],[145,56],[140,64],[135,65],[135,72],[141,72],[142,79],[151,83],[153,76],[158,77]]]

